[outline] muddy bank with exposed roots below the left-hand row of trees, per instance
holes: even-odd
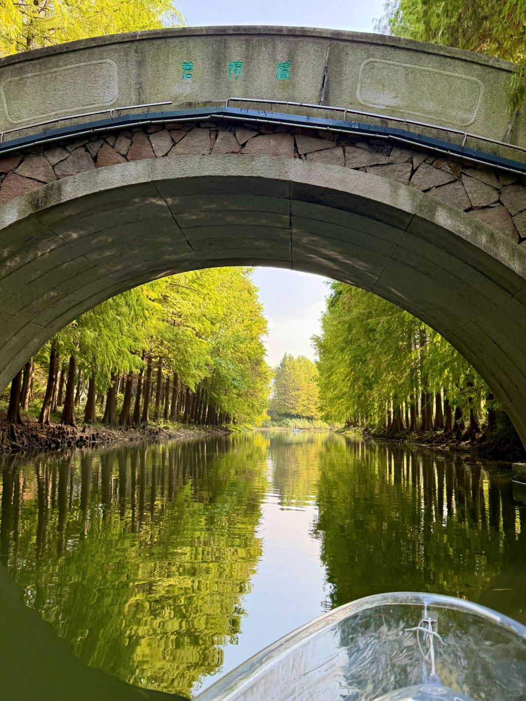
[[[66,447],[86,447],[104,443],[169,440],[229,433],[217,426],[185,426],[174,424],[170,428],[159,426],[61,426],[52,423],[42,426],[34,419],[25,418],[22,425],[7,423],[0,418],[0,454],[32,450],[58,450]]]

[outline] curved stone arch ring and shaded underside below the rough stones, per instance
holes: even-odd
[[[526,442],[526,255],[408,186],[269,156],[91,170],[0,207],[0,386],[84,311],[149,280],[279,266],[370,290],[435,328]]]

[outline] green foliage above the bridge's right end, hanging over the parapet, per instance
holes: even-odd
[[[518,63],[510,111],[526,95],[526,0],[388,0],[379,31]]]

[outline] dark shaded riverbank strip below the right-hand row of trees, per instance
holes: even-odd
[[[374,440],[407,448],[429,448],[455,454],[473,454],[490,460],[515,462],[526,459],[526,450],[522,447],[520,442],[518,442],[518,439],[514,441],[515,437],[513,435],[491,439],[481,434],[472,440],[455,440],[452,435],[446,435],[443,431],[431,431],[422,434],[389,435],[384,431],[347,428],[339,430],[337,433],[342,433],[347,436],[358,435],[363,438],[372,438]]]

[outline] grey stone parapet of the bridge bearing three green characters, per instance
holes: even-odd
[[[384,123],[405,118],[526,147],[525,115],[508,116],[512,70],[479,54],[323,29],[105,36],[1,60],[0,132],[4,139],[36,133],[42,123],[78,123],[89,112],[136,105],[182,109],[248,97],[344,107],[382,114]]]

